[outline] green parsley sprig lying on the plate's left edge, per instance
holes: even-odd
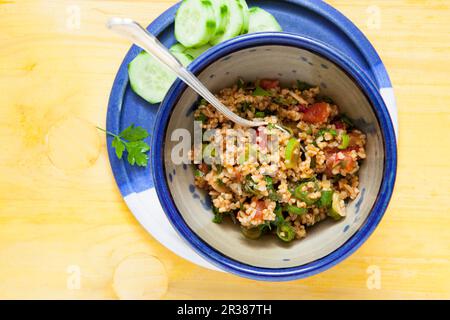
[[[127,152],[127,161],[132,166],[146,167],[148,165],[148,154],[150,146],[144,141],[149,134],[142,127],[134,124],[124,129],[120,134],[114,134],[105,129],[97,127],[98,130],[114,137],[111,146],[116,151],[116,156],[122,159],[124,152]]]

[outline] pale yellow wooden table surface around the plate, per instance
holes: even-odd
[[[450,3],[332,0],[372,41],[399,107],[399,172],[370,239],[322,274],[208,271],[136,222],[108,163],[106,106],[129,48],[174,0],[0,0],[0,298],[450,298]]]

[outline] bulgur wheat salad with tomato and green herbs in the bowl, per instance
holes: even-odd
[[[279,80],[239,79],[217,97],[241,117],[269,125],[256,129],[255,143],[244,134],[240,145],[227,146],[236,161],[212,150],[210,164],[195,165],[195,184],[211,197],[215,223],[230,217],[247,238],[270,233],[291,242],[328,217],[345,217],[346,202],[359,194],[366,136],[318,86],[297,81],[284,88]],[[223,136],[230,129],[252,130],[204,100],[195,119],[203,130]],[[269,152],[274,141],[277,150]]]

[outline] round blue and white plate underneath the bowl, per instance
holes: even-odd
[[[284,31],[326,42],[357,63],[379,88],[398,135],[397,108],[387,71],[370,42],[351,21],[322,1],[267,0],[248,1],[248,4],[271,12]],[[167,47],[176,42],[173,27],[178,6],[179,4],[167,10],[148,27]],[[136,46],[130,49],[114,81],[106,124],[111,132],[120,132],[132,123],[146,128],[150,133],[155,128],[159,105],[150,105],[134,94],[128,81],[128,64],[140,51]],[[194,252],[173,229],[156,194],[151,168],[132,167],[125,161],[118,160],[111,148],[111,138],[107,139],[109,159],[117,185],[141,225],[177,255],[203,267],[218,270]]]

